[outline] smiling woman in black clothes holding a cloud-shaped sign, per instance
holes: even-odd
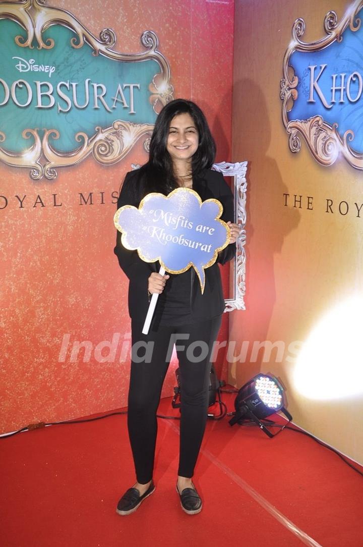
[[[201,109],[182,99],[169,102],[157,117],[149,161],[139,170],[126,174],[118,208],[127,204],[138,207],[148,193],[156,191],[168,195],[178,187],[192,188],[202,201],[211,197],[218,199],[223,205],[221,218],[228,222],[231,233],[230,245],[218,255],[218,262],[224,264],[235,255],[239,228],[233,224],[231,190],[220,173],[210,170],[214,156],[214,140]],[[161,276],[157,273],[159,263],[145,263],[136,251],[125,249],[119,232],[115,254],[130,280],[128,309],[132,319],[132,347],[137,342],[153,342],[151,362],[149,359],[140,363],[132,352],[127,425],[137,482],[122,496],[117,512],[120,515],[132,513],[155,490],[156,410],[174,336],[182,405],[177,492],[183,510],[196,514],[202,509],[202,501],[191,479],[207,420],[210,351],[225,307],[219,267],[215,263],[205,270],[206,284],[202,294],[193,268],[183,274]],[[143,335],[149,298],[153,293],[160,296],[149,334]],[[188,347],[193,343],[207,344],[209,348],[209,354],[205,356],[204,353],[204,358],[198,362],[191,362],[187,357]]]

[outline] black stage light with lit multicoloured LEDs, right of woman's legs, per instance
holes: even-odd
[[[267,374],[257,374],[239,389],[235,399],[235,409],[235,416],[229,421],[231,426],[235,423],[242,425],[245,420],[251,420],[268,437],[277,435],[292,420],[291,414],[284,407],[282,385],[276,377]],[[288,418],[288,422],[273,434],[261,420],[279,411]]]

